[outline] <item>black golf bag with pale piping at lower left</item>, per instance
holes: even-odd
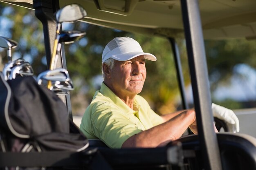
[[[65,104],[33,77],[5,81],[0,72],[0,151],[82,151],[86,137]]]

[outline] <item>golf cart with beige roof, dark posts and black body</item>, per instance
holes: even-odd
[[[70,3],[81,4],[85,9],[87,14],[81,18],[83,22],[169,38],[173,51],[175,51],[180,91],[184,108],[186,108],[182,69],[180,68],[179,53],[175,44],[175,38],[184,37],[189,57],[199,134],[182,137],[164,148],[112,150],[102,145],[90,144],[89,148],[91,150],[83,153],[26,153],[27,157],[25,157],[26,154],[24,153],[1,153],[1,166],[76,167],[79,165],[80,168],[84,168],[90,163],[90,165],[97,164],[97,161],[104,158],[110,165],[108,168],[114,169],[168,169],[171,167],[172,169],[226,170],[256,168],[256,143],[253,137],[230,133],[216,135],[213,126],[211,126],[212,124],[209,123],[213,122],[213,118],[203,42],[203,35],[205,38],[229,38],[236,35],[254,37],[255,33],[248,31],[244,27],[246,25],[255,29],[255,2],[249,0],[246,2],[233,1],[225,3],[204,0],[200,1],[200,4],[196,0],[6,0],[3,2],[35,9],[36,17],[44,26],[45,50],[49,68],[51,68],[52,53],[56,51],[54,46],[57,46],[54,44],[54,40],[57,39],[56,23],[52,16],[59,8],[65,7]],[[215,9],[214,7],[216,6],[214,5],[212,6],[213,8],[210,8],[211,3],[218,4],[219,6],[217,7],[219,8]],[[241,8],[240,13],[238,10],[231,8],[231,3]],[[228,9],[229,7],[231,10],[225,11],[225,8]],[[209,10],[207,10],[208,8]],[[220,8],[224,8],[224,10],[219,12],[218,9]],[[145,18],[149,18],[149,20]],[[230,33],[228,31],[230,29],[234,31]],[[239,34],[236,30],[239,30]],[[63,46],[60,48],[63,48]],[[54,67],[65,68],[63,50],[60,49],[58,52],[61,54],[56,59],[56,66]],[[69,95],[63,96],[62,100],[69,109],[69,116],[72,118]],[[35,161],[26,162],[25,160],[28,157],[34,157]],[[51,160],[49,161],[50,158]],[[16,160],[19,160],[19,162],[16,162]],[[90,163],[86,160],[90,160]]]

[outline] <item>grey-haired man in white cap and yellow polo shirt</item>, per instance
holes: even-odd
[[[110,148],[157,147],[178,139],[187,128],[197,134],[194,110],[159,116],[138,95],[146,79],[145,60],[157,59],[144,53],[132,38],[117,37],[106,45],[102,54],[104,80],[80,125],[88,139],[100,139]],[[239,131],[234,112],[213,104],[213,113],[236,124]]]

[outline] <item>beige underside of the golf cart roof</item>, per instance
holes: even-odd
[[[33,0],[3,0],[33,9]],[[184,37],[180,0],[61,0],[83,6],[84,22],[124,31]],[[256,38],[256,1],[200,0],[205,39]]]

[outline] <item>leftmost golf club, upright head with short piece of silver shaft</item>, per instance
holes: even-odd
[[[7,49],[8,62],[11,62],[11,49],[14,49],[18,45],[17,42],[0,36],[0,47]]]

